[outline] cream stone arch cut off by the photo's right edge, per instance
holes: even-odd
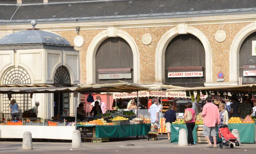
[[[244,39],[256,31],[256,22],[242,28],[230,46],[230,82],[239,84],[239,52]],[[234,76],[235,75],[235,76]]]

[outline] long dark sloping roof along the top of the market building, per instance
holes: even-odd
[[[103,22],[255,14],[255,0],[94,0],[0,5],[0,24]],[[2,22],[2,23],[1,23]]]

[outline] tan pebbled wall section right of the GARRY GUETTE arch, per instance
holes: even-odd
[[[212,82],[217,82],[218,72],[224,73],[224,81],[229,82],[230,78],[230,46],[236,34],[250,23],[232,23],[232,24],[214,24],[214,25],[193,25],[202,31],[209,40],[212,49]],[[215,39],[215,33],[218,30],[226,32],[226,39],[224,42],[218,42]],[[234,75],[236,76],[236,75]]]

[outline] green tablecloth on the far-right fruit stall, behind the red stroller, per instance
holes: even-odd
[[[228,128],[239,130],[241,143],[254,143],[255,140],[255,123],[229,123]]]

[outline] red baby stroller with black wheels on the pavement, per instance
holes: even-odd
[[[222,139],[222,143],[220,143],[220,148],[223,148],[223,146],[229,146],[229,143],[230,143],[230,148],[234,148],[233,143],[235,143],[235,146],[240,146],[239,141],[230,132],[227,125],[220,126],[218,129],[218,132],[219,132],[219,137],[221,137]]]

